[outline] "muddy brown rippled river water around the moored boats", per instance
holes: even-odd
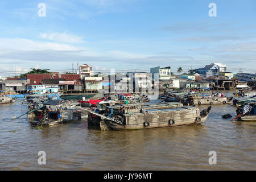
[[[86,120],[36,130],[27,115],[11,119],[27,112],[21,103],[0,105],[3,170],[256,169],[256,122],[222,119],[236,115],[229,105],[213,105],[202,125],[100,131],[88,129]],[[38,151],[46,152],[46,165],[38,164]],[[209,164],[209,151],[216,151],[216,165]]]

